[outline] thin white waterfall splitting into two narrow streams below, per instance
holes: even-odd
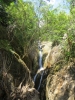
[[[41,45],[41,42],[40,41],[38,43],[38,48],[39,48],[39,71],[41,71],[41,70],[43,70],[43,67],[42,67],[42,56],[43,55],[42,55],[42,45]],[[40,83],[39,83],[39,86],[38,86],[38,89],[37,90],[39,90],[39,88],[41,86],[43,74],[44,74],[44,71],[41,74]],[[37,75],[38,75],[38,73],[34,76],[34,82],[36,80]]]

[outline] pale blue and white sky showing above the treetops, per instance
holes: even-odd
[[[24,1],[31,1],[35,8],[36,6],[38,6],[38,0],[24,0]],[[66,13],[69,13],[69,4],[67,2],[67,0],[43,0],[46,4],[48,5],[53,5],[53,8],[60,8],[61,10],[64,10]]]

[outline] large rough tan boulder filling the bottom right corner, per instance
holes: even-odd
[[[46,100],[75,100],[75,64],[65,66],[54,75],[49,74]]]

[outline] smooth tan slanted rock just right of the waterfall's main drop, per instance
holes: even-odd
[[[54,65],[57,61],[60,60],[60,58],[62,58],[62,49],[61,46],[54,46],[52,48],[52,50],[49,51],[46,59],[45,59],[45,63],[44,63],[44,68],[46,67],[51,67],[52,65]]]

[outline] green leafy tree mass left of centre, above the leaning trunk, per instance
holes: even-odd
[[[11,3],[10,6],[6,8],[6,11],[11,17],[9,24],[15,23],[16,25],[16,29],[13,31],[14,38],[11,45],[13,49],[24,54],[24,52],[28,51],[26,51],[26,49],[29,48],[35,41],[35,38],[37,38],[36,26],[38,18],[34,12],[34,7],[31,3],[18,0],[17,5]]]

